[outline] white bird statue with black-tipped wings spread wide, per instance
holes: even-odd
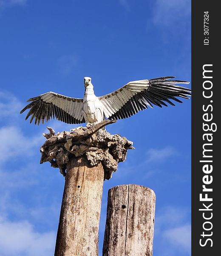
[[[171,101],[181,102],[176,97],[189,99],[191,90],[176,84],[189,84],[187,81],[171,80],[174,76],[132,81],[113,93],[97,97],[90,77],[84,78],[85,94],[83,99],[48,92],[28,99],[29,103],[20,113],[30,109],[26,120],[30,123],[48,122],[56,118],[68,124],[99,123],[105,118],[124,119],[140,110],[153,105],[175,106]]]

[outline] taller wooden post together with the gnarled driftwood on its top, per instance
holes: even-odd
[[[133,149],[125,137],[100,130],[113,122],[57,134],[48,128],[50,133],[43,134],[47,140],[40,148],[40,163],[51,163],[65,176],[55,256],[98,256],[103,181]]]

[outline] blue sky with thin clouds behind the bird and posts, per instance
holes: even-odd
[[[50,256],[64,178],[40,162],[46,126],[20,110],[48,91],[82,98],[83,77],[97,96],[129,81],[191,79],[190,0],[0,0],[0,256]],[[191,87],[191,84],[190,84]],[[191,100],[141,111],[107,127],[133,141],[104,182],[99,252],[108,189],[140,184],[156,193],[153,256],[189,256]]]

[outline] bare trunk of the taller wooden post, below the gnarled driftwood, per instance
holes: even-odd
[[[104,169],[85,156],[70,157],[57,232],[55,256],[98,256]]]

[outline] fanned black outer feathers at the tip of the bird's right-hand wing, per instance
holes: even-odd
[[[150,87],[146,91],[146,94],[148,94],[150,102],[152,102],[154,105],[162,107],[161,105],[167,106],[165,102],[175,106],[175,104],[171,102],[170,99],[182,103],[181,100],[177,99],[176,97],[190,99],[191,89],[176,85],[189,84],[190,82],[180,80],[169,80],[173,78],[175,78],[175,76],[165,76],[149,79]],[[150,104],[150,107],[153,106]]]

